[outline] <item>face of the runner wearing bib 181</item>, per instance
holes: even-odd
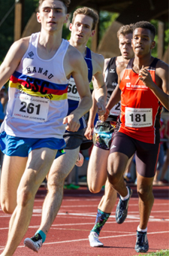
[[[151,49],[155,47],[155,41],[153,41],[150,30],[143,28],[134,29],[132,46],[137,56],[150,53]]]

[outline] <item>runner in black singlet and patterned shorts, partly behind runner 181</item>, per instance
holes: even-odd
[[[116,88],[118,76],[116,74],[116,65],[128,62],[128,59],[134,56],[131,47],[132,24],[122,26],[117,32],[119,39],[119,50],[122,56],[113,57],[104,60],[104,81],[107,86],[107,102],[110,99],[113,90]],[[94,102],[94,100],[93,100]],[[92,139],[93,123],[95,118],[95,104],[90,109],[88,127],[85,133],[87,139]],[[94,130],[92,154],[88,165],[88,186],[92,193],[98,193],[105,184],[104,196],[98,205],[98,213],[95,220],[95,226],[89,234],[90,246],[103,246],[98,240],[101,228],[106,223],[116,203],[116,190],[107,180],[107,159],[110,153],[110,144],[113,138],[113,130],[116,126],[116,120],[120,113],[120,102],[118,102],[111,110],[106,122],[98,121]]]

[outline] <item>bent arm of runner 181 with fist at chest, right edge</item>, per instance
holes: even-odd
[[[149,89],[152,90],[152,93],[155,94],[155,96],[159,99],[162,105],[164,105],[164,108],[167,108],[169,110],[169,66],[162,62],[161,60],[158,60],[155,74],[158,75],[158,78],[161,79],[161,86],[160,84],[155,84],[152,81],[152,77],[149,74],[148,70],[142,67],[139,72],[140,80],[143,81],[143,84],[146,85],[146,87],[149,87]]]

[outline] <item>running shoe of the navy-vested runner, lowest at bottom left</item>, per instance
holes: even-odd
[[[42,247],[41,235],[37,233],[35,236],[32,236],[31,238],[26,238],[24,240],[24,245],[27,246],[29,249],[38,252]]]

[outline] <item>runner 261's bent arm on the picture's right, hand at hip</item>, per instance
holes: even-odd
[[[78,107],[64,118],[63,123],[68,123],[66,130],[76,132],[80,127],[79,119],[92,107],[92,96],[89,90],[88,69],[82,54],[70,45],[67,56],[64,59],[65,73],[72,75],[80,95]]]

